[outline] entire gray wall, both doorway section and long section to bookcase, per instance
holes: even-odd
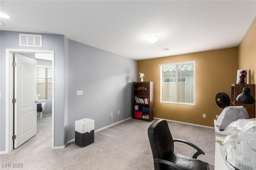
[[[74,121],[78,119],[94,119],[95,129],[100,129],[112,123],[111,111],[113,123],[132,116],[137,61],[68,40],[64,35],[39,34],[43,36],[43,47],[19,47],[19,33],[0,31],[0,151],[6,147],[6,49],[55,51],[55,147],[74,139]],[[83,90],[84,95],[76,96],[76,90]]]

